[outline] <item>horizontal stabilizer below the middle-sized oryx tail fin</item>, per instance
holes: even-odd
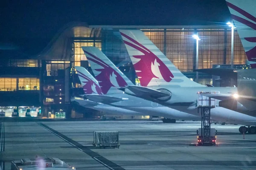
[[[111,104],[114,102],[120,102],[123,100],[128,100],[128,98],[118,98],[112,96],[106,96],[101,94],[85,94],[83,95],[85,99],[89,99],[93,102],[103,103],[103,104]]]

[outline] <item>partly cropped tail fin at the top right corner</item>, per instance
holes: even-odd
[[[252,68],[256,68],[256,1],[226,0],[244,51]]]

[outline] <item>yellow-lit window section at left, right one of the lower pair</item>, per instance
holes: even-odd
[[[19,78],[19,90],[39,90],[40,81],[38,78]]]

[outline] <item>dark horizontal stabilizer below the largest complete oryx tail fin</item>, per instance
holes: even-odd
[[[169,94],[165,94],[163,92],[160,92],[158,90],[154,90],[151,88],[146,88],[143,86],[137,86],[137,85],[126,85],[126,88],[136,94],[136,96],[149,96],[154,99],[158,99],[160,97],[167,97],[170,96]],[[120,89],[122,90],[122,89]]]

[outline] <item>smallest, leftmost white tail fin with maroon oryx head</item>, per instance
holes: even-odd
[[[98,81],[83,67],[75,66],[84,94],[102,94]]]

